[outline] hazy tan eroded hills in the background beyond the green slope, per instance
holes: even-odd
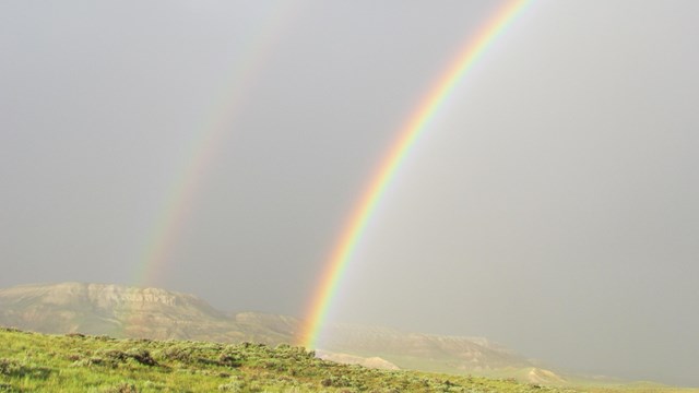
[[[0,324],[43,333],[84,333],[121,338],[198,340],[218,343],[292,344],[300,322],[291,317],[226,314],[192,295],[158,288],[63,283],[0,289]],[[529,380],[553,372],[532,369],[524,357],[479,337],[408,333],[335,324],[319,355],[384,369],[449,373],[508,373]],[[522,377],[523,376],[523,377]],[[532,381],[534,381],[532,379]],[[544,381],[545,382],[545,381]],[[556,374],[549,382],[559,383]]]

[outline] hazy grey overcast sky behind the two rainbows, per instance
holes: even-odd
[[[139,283],[199,166],[150,284],[303,317],[382,155],[500,5],[3,1],[0,286]],[[697,37],[694,0],[533,1],[400,169],[332,320],[699,385]]]

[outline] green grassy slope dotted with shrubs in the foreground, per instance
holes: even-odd
[[[262,344],[0,329],[2,392],[564,392],[511,380],[372,370]]]

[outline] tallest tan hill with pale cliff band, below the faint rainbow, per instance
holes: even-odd
[[[0,323],[44,333],[167,340],[215,335],[228,319],[191,295],[64,283],[0,289]]]

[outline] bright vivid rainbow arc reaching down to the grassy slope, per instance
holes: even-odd
[[[459,82],[469,73],[476,61],[525,8],[528,0],[511,1],[499,9],[493,19],[470,40],[454,62],[448,68],[422,104],[412,112],[399,138],[386,154],[367,189],[350,216],[344,231],[320,277],[315,296],[311,299],[306,322],[297,340],[307,348],[316,348],[330,306],[337,294],[339,284],[344,276],[348,262],[362,239],[369,219],[374,215],[388,186],[395,177],[401,164],[408,155],[419,136],[425,132],[439,108],[448,100]]]

